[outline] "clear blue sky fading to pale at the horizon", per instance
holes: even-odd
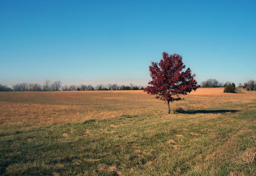
[[[163,51],[198,82],[255,80],[256,1],[0,1],[1,84],[145,85]]]

